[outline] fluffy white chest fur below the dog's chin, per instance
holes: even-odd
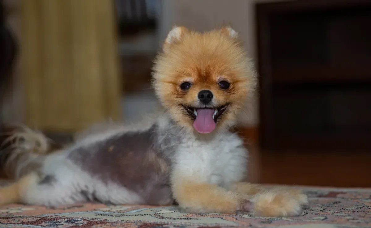
[[[193,181],[227,187],[244,178],[247,151],[232,133],[204,141],[185,138],[174,160],[178,174],[187,175]]]

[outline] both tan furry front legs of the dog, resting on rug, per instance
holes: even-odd
[[[229,191],[214,184],[200,184],[178,176],[173,193],[181,207],[199,213],[236,213],[251,211],[264,217],[298,215],[308,198],[295,188],[264,189],[238,182]]]

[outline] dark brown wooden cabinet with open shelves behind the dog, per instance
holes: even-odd
[[[256,5],[260,146],[371,149],[371,1]]]

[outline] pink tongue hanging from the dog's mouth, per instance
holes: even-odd
[[[193,122],[194,129],[203,134],[212,132],[215,129],[214,109],[196,109],[196,111],[196,120]]]

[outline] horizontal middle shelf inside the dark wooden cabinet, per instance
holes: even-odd
[[[361,67],[276,67],[273,83],[371,82],[371,65]]]

